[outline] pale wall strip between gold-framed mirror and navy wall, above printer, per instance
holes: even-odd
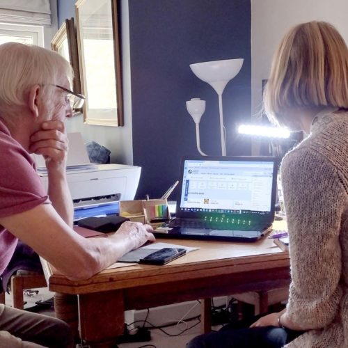
[[[65,125],[68,132],[81,132],[85,143],[95,141],[111,150],[111,163],[133,164],[128,1],[121,1],[122,81],[125,126],[105,127],[86,125],[82,116],[75,116],[74,118],[68,119]]]

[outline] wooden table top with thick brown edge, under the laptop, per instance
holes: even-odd
[[[284,226],[276,221],[274,228]],[[239,274],[246,271],[289,267],[289,254],[281,251],[272,239],[263,237],[258,242],[215,242],[188,239],[160,239],[157,242],[198,247],[163,266],[132,264],[127,267],[105,269],[88,280],[68,280],[47,265],[45,275],[49,290],[65,294],[86,294],[141,285],[173,282],[182,278],[194,280],[203,276]]]

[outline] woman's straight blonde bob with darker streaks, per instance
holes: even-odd
[[[286,109],[313,106],[348,108],[347,45],[326,22],[290,29],[274,54],[264,91],[264,111],[278,125],[286,125]]]

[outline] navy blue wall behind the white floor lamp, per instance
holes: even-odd
[[[74,0],[58,0],[59,25],[73,16]],[[198,155],[185,104],[192,97],[207,101],[201,149],[221,155],[218,98],[191,63],[244,58],[223,92],[223,116],[227,154],[250,155],[235,127],[251,117],[251,1],[129,0],[129,31],[134,165],[142,167],[136,198],[160,197],[177,180],[182,155]]]

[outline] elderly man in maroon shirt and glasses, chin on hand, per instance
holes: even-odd
[[[17,240],[28,244],[72,280],[90,278],[122,255],[155,240],[152,228],[126,222],[109,238],[84,239],[72,230],[72,199],[65,166],[64,120],[72,70],[47,49],[0,45],[0,274]],[[45,157],[49,187],[43,189],[29,154]],[[0,305],[0,347],[72,347],[68,326]]]

